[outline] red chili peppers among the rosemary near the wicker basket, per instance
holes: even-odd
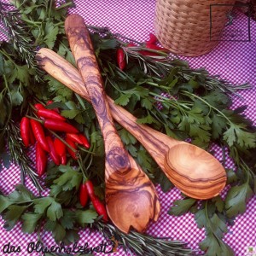
[[[148,41],[146,41],[143,45],[141,45],[145,49],[138,50],[137,52],[141,55],[144,55],[144,56],[159,55],[159,54],[157,54],[153,51],[147,50],[147,49],[154,49],[154,50],[160,50],[160,51],[163,51],[163,52],[169,52],[168,49],[165,49],[165,48],[162,48],[162,47],[158,46],[157,43],[158,43],[158,39],[155,37],[155,35],[153,33],[149,33]],[[129,43],[129,44],[126,45],[126,47],[137,47],[137,45],[133,44],[133,43]],[[124,49],[122,49],[122,48],[117,49],[116,60],[117,60],[118,67],[121,70],[124,70],[125,67],[126,67]]]

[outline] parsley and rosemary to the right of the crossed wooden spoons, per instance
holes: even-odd
[[[108,30],[103,39],[99,31],[92,34],[98,62],[108,95],[116,104],[129,110],[140,124],[150,125],[157,131],[179,140],[210,150],[212,145],[223,148],[233,160],[235,167],[228,168],[228,184],[231,188],[223,199],[196,201],[184,196],[174,201],[169,213],[181,215],[193,212],[199,228],[205,228],[206,239],[200,243],[206,255],[233,255],[224,243],[224,233],[238,214],[245,212],[247,201],[256,191],[256,162],[253,152],[256,133],[253,122],[243,114],[245,106],[231,110],[237,90],[247,89],[248,84],[231,85],[210,76],[206,70],[189,68],[189,64],[175,57],[140,54],[143,44],[128,47]],[[102,32],[102,31],[100,31]],[[125,51],[127,66],[124,71],[116,67],[113,56],[121,47]],[[160,54],[160,52],[158,52]],[[144,171],[163,190],[172,187],[147,154],[142,155],[134,137],[119,129],[130,153],[137,158]],[[143,151],[144,152],[144,151]]]

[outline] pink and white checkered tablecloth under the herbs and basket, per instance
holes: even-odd
[[[154,32],[154,0],[76,0],[76,8],[72,13],[78,13],[84,17],[87,24],[94,26],[108,26],[112,32],[134,38],[140,41],[148,39],[148,33]],[[247,16],[236,14],[236,27],[245,31],[247,27]],[[229,35],[226,35],[229,37]],[[234,38],[234,35],[232,36]],[[234,107],[247,105],[247,117],[256,123],[256,22],[251,21],[251,42],[241,43],[234,41],[222,41],[209,54],[183,58],[189,61],[191,67],[206,67],[209,73],[219,74],[222,79],[228,79],[235,84],[250,83],[253,89],[242,91],[242,98],[236,98]],[[224,38],[225,39],[225,38]],[[31,156],[34,157],[33,152]],[[8,181],[8,182],[7,182]],[[14,189],[14,185],[20,183],[20,170],[18,166],[10,166],[9,170],[3,169],[0,172],[0,188],[4,193],[9,193]],[[186,241],[189,247],[199,250],[198,243],[204,239],[204,230],[199,230],[195,224],[192,214],[185,214],[181,217],[173,217],[167,214],[172,202],[180,198],[178,189],[172,189],[168,193],[163,193],[157,187],[160,195],[161,213],[155,224],[150,224],[148,234],[153,236],[172,237],[181,241]],[[256,253],[256,196],[247,203],[247,211],[237,217],[235,224],[229,228],[228,234],[224,236],[224,241],[233,248],[236,256],[253,255],[248,252],[248,247],[254,247]],[[102,236],[97,233],[90,233],[89,230],[80,232],[81,240],[79,244],[88,242],[91,247],[96,247],[102,240]],[[15,247],[20,246],[20,253],[10,253],[9,255],[33,255],[29,254],[26,247],[31,241],[37,241],[36,234],[25,235],[21,232],[20,224],[14,230],[3,229],[3,220],[0,220],[0,256],[3,253],[3,246],[11,242]],[[54,240],[45,233],[43,241],[49,247],[54,245]],[[96,253],[96,255],[103,255]],[[122,249],[116,256],[127,255]]]

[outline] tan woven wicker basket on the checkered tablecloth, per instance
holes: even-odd
[[[154,30],[160,43],[177,55],[203,55],[213,49],[236,0],[156,0]],[[211,15],[210,15],[211,9]],[[211,27],[212,26],[212,27]]]

